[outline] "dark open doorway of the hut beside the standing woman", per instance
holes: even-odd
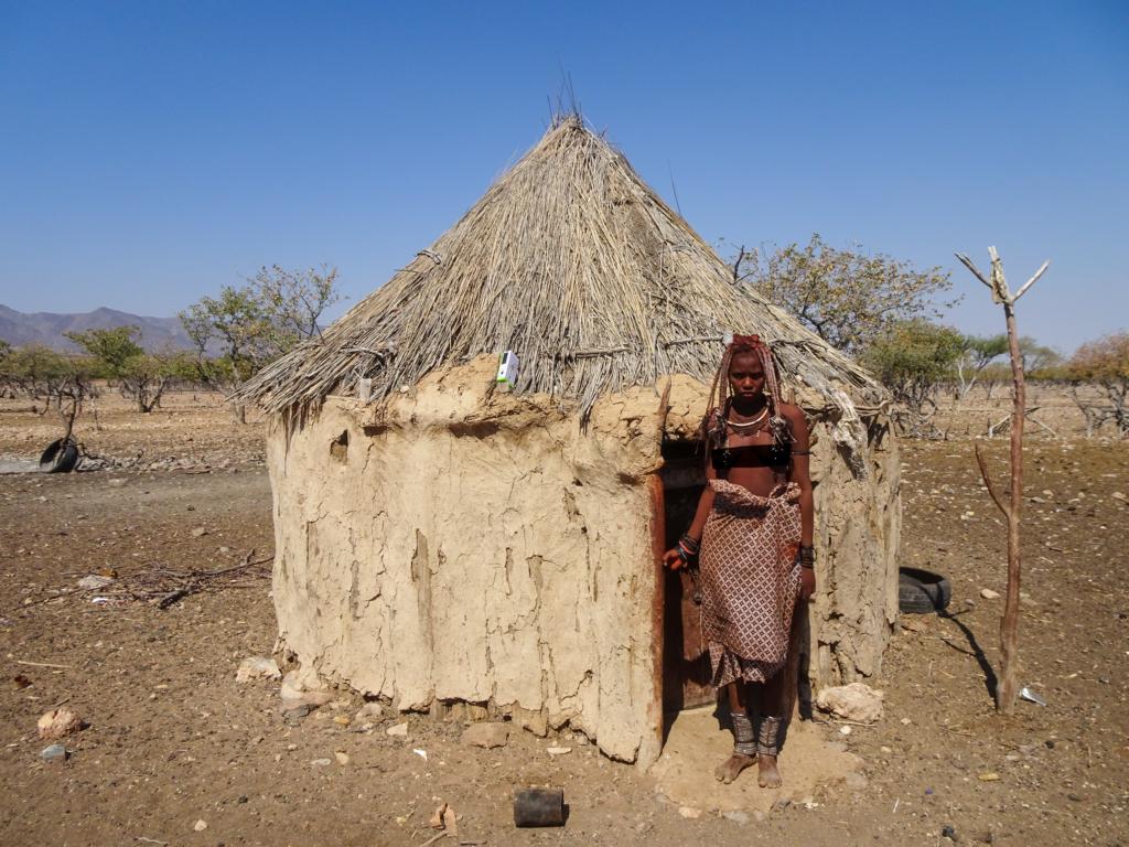
[[[694,517],[706,474],[698,442],[664,442],[663,503],[666,545],[671,549]],[[709,686],[709,656],[701,637],[701,614],[695,585],[685,570],[665,574],[663,609],[663,711],[714,701]],[[669,723],[669,722],[667,722]]]

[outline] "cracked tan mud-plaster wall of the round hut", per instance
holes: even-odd
[[[658,395],[602,401],[581,433],[546,398],[489,391],[495,366],[432,375],[379,409],[331,398],[289,434],[272,421],[280,638],[326,679],[402,710],[465,702],[541,734],[571,725],[647,765],[660,719],[647,487],[662,464]],[[689,420],[704,386],[679,379],[672,405]],[[868,454],[878,490],[830,438],[819,446],[813,465],[830,484],[816,489],[817,538],[843,544],[821,567],[864,595],[816,603],[813,644],[835,615],[837,681],[875,672],[891,599],[896,611],[898,465]]]

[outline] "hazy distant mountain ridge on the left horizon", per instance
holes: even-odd
[[[64,332],[112,330],[116,326],[140,329],[140,343],[146,350],[192,348],[192,341],[181,326],[180,320],[175,317],[146,317],[105,307],[81,314],[53,312],[27,314],[0,304],[0,339],[14,347],[37,343],[55,350],[76,352],[78,346],[65,338]]]

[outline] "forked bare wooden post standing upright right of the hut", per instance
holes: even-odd
[[[999,684],[996,688],[996,710],[1003,715],[1009,715],[1015,708],[1018,686],[1016,675],[1019,664],[1019,509],[1023,505],[1023,421],[1026,409],[1023,356],[1019,352],[1019,332],[1015,326],[1015,302],[1043,276],[1050,265],[1050,260],[1043,262],[1031,279],[1013,295],[1007,286],[1007,279],[1004,277],[1004,262],[1000,260],[999,253],[995,247],[988,247],[988,254],[991,256],[990,278],[986,278],[966,255],[957,253],[956,257],[977,279],[988,286],[992,300],[1004,307],[1004,317],[1007,322],[1007,347],[1012,358],[1012,490],[1008,503],[1004,501],[992,484],[991,475],[988,472],[988,461],[980,451],[980,445],[978,444],[975,448],[977,464],[980,465],[980,475],[983,477],[984,486],[988,487],[988,494],[1007,519],[1007,595],[1004,600],[1004,618],[999,625],[1001,658]]]

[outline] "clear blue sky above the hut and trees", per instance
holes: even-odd
[[[352,302],[532,146],[564,75],[710,242],[996,244],[1021,329],[1129,328],[1129,3],[0,0],[0,303],[170,315],[263,264]]]

